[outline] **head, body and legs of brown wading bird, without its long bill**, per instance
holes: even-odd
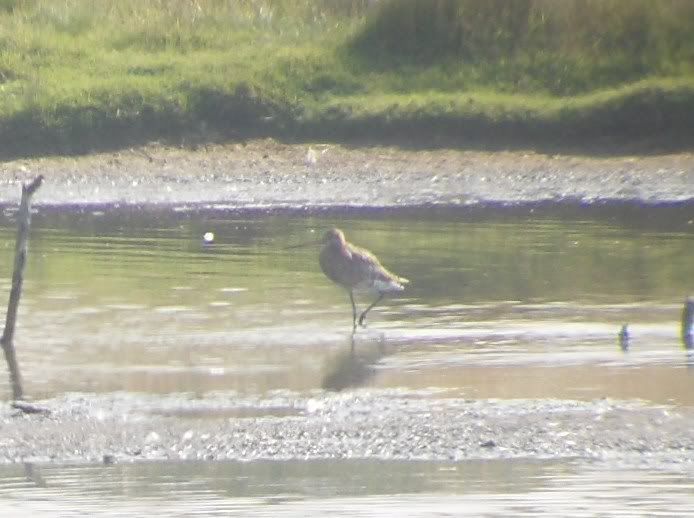
[[[359,316],[359,325],[363,326],[366,314],[386,293],[402,291],[405,289],[404,285],[410,282],[386,270],[368,250],[348,243],[344,233],[337,228],[328,230],[321,242],[323,248],[318,256],[321,270],[328,279],[349,293],[349,301],[352,303],[352,329],[357,328],[355,290],[378,294],[376,300]]]

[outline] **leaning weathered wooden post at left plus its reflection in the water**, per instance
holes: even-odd
[[[17,321],[17,309],[19,298],[22,295],[22,283],[24,282],[24,266],[26,265],[29,244],[29,226],[31,224],[31,197],[41,187],[43,176],[37,176],[29,184],[22,185],[22,201],[17,213],[17,244],[14,255],[14,271],[12,272],[12,288],[10,300],[7,303],[7,315],[5,316],[5,330],[0,338],[0,345],[5,353],[7,368],[10,371],[12,383],[12,397],[15,401],[23,398],[22,377],[19,373],[19,365],[14,351],[14,328]]]

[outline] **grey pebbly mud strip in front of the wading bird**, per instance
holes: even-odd
[[[357,391],[243,400],[72,396],[0,410],[0,462],[588,458],[694,462],[694,415],[639,402]],[[243,415],[250,417],[243,417]],[[283,415],[282,415],[283,414]]]

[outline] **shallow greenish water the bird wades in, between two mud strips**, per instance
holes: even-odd
[[[686,212],[432,212],[40,212],[16,336],[26,392],[368,386],[694,404],[680,343],[694,292]],[[9,258],[13,223],[0,223]],[[333,225],[412,281],[353,338],[318,247],[285,249]],[[4,298],[11,263],[0,266]]]

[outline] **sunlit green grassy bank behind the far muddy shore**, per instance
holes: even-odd
[[[686,0],[0,0],[0,153],[694,134]]]

